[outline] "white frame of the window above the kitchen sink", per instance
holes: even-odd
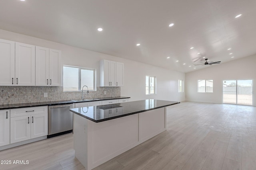
[[[94,92],[94,91],[97,91],[97,88],[96,88],[96,75],[97,75],[97,72],[96,72],[96,68],[86,68],[86,67],[80,67],[80,66],[70,66],[70,65],[63,65],[63,68],[64,67],[70,67],[70,68],[78,68],[78,91],[64,91],[64,84],[63,84],[63,92],[82,92],[82,87],[81,87],[81,70],[92,70],[94,71],[94,74],[93,74],[93,90],[89,90],[90,92]],[[64,74],[63,74],[63,78],[64,78]]]

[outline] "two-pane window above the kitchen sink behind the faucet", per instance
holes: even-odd
[[[63,66],[64,92],[79,92],[84,85],[88,86],[88,90],[96,91],[96,69]]]

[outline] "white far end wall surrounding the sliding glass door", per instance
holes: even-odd
[[[227,63],[186,73],[186,101],[222,103],[223,80],[253,80],[253,91],[256,92],[256,55],[244,57]],[[213,93],[198,93],[198,80],[213,80]],[[256,106],[256,95],[253,94],[253,106]]]

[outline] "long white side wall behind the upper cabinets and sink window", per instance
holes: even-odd
[[[154,98],[158,100],[184,101],[185,94],[178,93],[178,80],[185,80],[185,74],[164,68],[138,63],[120,57],[114,57],[94,51],[80,49],[69,45],[55,43],[44,39],[13,33],[0,29],[0,39],[38,45],[62,51],[62,64],[97,69],[99,78],[99,61],[108,59],[124,63],[124,87],[121,96],[130,96],[131,101]],[[156,95],[145,95],[145,76],[156,76]],[[97,80],[97,85],[99,81]]]

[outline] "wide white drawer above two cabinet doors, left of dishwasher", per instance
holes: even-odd
[[[24,107],[24,108],[18,108],[18,109],[11,109],[10,113],[11,113],[11,117],[48,113],[48,106]]]

